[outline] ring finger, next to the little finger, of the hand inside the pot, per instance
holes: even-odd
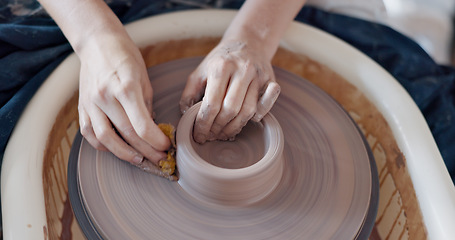
[[[252,81],[248,87],[245,101],[243,101],[239,114],[222,129],[217,137],[221,140],[228,140],[233,139],[235,135],[240,133],[242,128],[256,113],[258,98],[259,83],[258,81]]]

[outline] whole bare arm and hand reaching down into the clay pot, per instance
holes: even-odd
[[[221,42],[188,78],[180,108],[202,99],[194,139],[230,139],[260,121],[280,93],[271,66],[280,39],[305,0],[247,0]]]

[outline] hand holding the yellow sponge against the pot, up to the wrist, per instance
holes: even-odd
[[[170,142],[151,117],[152,86],[129,36],[98,34],[78,50],[82,135],[96,149],[131,163],[165,158]]]

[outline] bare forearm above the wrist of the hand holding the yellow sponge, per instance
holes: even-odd
[[[39,0],[62,29],[76,54],[96,36],[127,36],[120,20],[102,0]]]

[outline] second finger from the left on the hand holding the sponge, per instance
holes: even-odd
[[[141,163],[144,157],[123,141],[113,130],[111,123],[101,109],[95,107],[90,112],[96,138],[115,156],[131,162]]]

